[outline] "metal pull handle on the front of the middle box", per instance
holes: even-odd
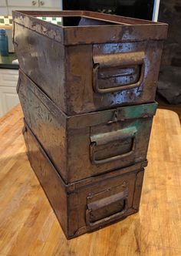
[[[137,134],[137,128],[135,126],[125,128],[123,130],[117,130],[110,133],[100,133],[94,136],[91,136],[91,147],[90,147],[90,157],[91,162],[93,164],[103,164],[103,163],[109,163],[116,160],[121,160],[125,157],[129,157],[132,155],[135,151],[135,144],[136,144],[136,134]],[[104,145],[110,142],[114,142],[117,140],[123,140],[126,138],[133,138],[132,147],[131,150],[127,153],[123,153],[121,155],[117,155],[114,157],[108,157],[101,160],[95,159],[95,147],[98,145]]]

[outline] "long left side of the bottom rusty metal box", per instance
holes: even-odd
[[[52,164],[44,157],[42,150],[35,142],[35,138],[26,130],[24,133],[25,143],[28,147],[28,159],[31,167],[35,171],[36,176],[48,197],[54,213],[58,217],[58,221],[64,233],[67,235],[67,193],[58,173],[54,170]]]

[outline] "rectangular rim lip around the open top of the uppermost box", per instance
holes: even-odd
[[[56,15],[55,15],[56,14]],[[116,19],[130,21],[124,25],[121,22],[113,25],[89,25],[89,26],[63,26],[52,24],[35,16],[46,15],[47,17],[65,15],[84,16],[95,19],[95,16],[102,17],[99,20],[116,22]],[[133,19],[117,15],[107,15],[99,12],[87,11],[62,11],[62,12],[36,12],[36,11],[12,11],[13,22],[23,25],[27,29],[48,36],[63,45],[82,45],[107,42],[139,42],[144,40],[166,39],[167,25],[161,22],[151,22],[140,19]],[[136,22],[136,24],[134,23]],[[138,22],[138,23],[137,23]],[[122,22],[123,23],[123,22]],[[14,24],[15,26],[15,24]],[[146,33],[145,33],[146,32]],[[87,36],[88,35],[88,36]]]

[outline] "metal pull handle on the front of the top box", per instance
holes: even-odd
[[[93,68],[93,88],[95,93],[115,93],[123,91],[124,89],[133,89],[139,87],[143,83],[145,73],[145,55],[144,52],[123,52],[116,54],[107,54],[104,56],[94,56]],[[98,71],[101,68],[110,68],[121,66],[127,68],[133,65],[140,65],[140,78],[137,83],[130,83],[127,85],[114,86],[110,88],[101,89],[98,85]],[[111,77],[111,76],[110,76]],[[116,84],[117,85],[117,84]]]

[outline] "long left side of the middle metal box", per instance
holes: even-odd
[[[22,72],[18,85],[18,96],[25,120],[61,176],[67,180],[66,120],[44,93]]]

